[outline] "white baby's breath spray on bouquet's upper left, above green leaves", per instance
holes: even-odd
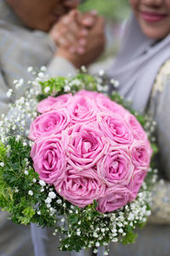
[[[24,145],[28,143],[28,128],[31,120],[37,117],[37,99],[36,96],[40,93],[40,85],[38,84],[42,79],[48,77],[43,73],[46,68],[42,67],[39,73],[35,73],[32,67],[28,67],[27,71],[32,75],[37,74],[37,78],[29,80],[26,84],[23,79],[14,80],[15,92],[9,89],[7,96],[14,96],[17,90],[22,90],[22,96],[15,100],[14,103],[9,104],[8,113],[4,113],[0,117],[0,140],[2,143],[8,142],[8,137],[15,135],[20,140],[24,137]],[[20,93],[19,93],[20,94]],[[31,143],[31,142],[30,142]]]

